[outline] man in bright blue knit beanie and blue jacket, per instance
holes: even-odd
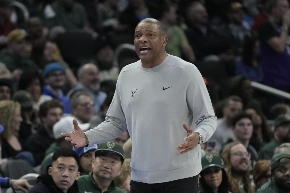
[[[42,95],[48,95],[59,100],[64,105],[64,113],[71,113],[70,101],[64,95],[62,88],[65,84],[65,69],[59,63],[47,64],[43,71],[46,86]]]

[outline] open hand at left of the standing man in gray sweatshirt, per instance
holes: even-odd
[[[83,130],[77,124],[77,120],[73,120],[73,130],[70,133],[61,133],[61,136],[66,137],[66,141],[70,141],[70,143],[75,147],[83,147],[86,144],[86,137]]]

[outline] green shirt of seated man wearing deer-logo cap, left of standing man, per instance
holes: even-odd
[[[93,178],[93,172],[90,172],[88,175],[81,175],[77,180],[79,185],[79,191],[81,193],[102,193],[101,188],[96,184],[95,179]],[[124,193],[120,188],[116,187],[115,182],[112,181],[108,187],[107,191],[103,193]]]

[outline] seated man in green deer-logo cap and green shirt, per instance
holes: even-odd
[[[77,180],[79,191],[123,193],[113,180],[122,173],[124,159],[124,150],[118,143],[101,143],[95,151],[93,171]]]

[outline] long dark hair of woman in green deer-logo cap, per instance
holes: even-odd
[[[222,172],[223,172],[223,179],[222,179],[222,182],[220,183],[220,186],[218,187],[218,193],[227,193],[229,191],[229,180],[228,180],[228,176],[226,175],[226,171],[225,169],[222,169]],[[204,171],[201,171],[200,172],[200,185],[202,186],[203,190],[204,190],[204,193],[212,193],[213,190],[212,188],[207,185],[207,182],[205,182],[204,180]]]

